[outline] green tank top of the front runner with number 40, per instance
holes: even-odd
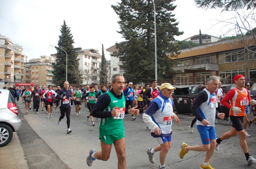
[[[107,94],[110,96],[110,104],[105,112],[111,111],[114,107],[118,106],[120,113],[117,117],[102,118],[99,124],[99,137],[104,135],[113,135],[124,132],[123,117],[125,115],[125,96],[122,95],[122,99],[117,99],[113,94],[108,91]]]

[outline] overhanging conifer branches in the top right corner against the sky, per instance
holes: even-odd
[[[201,8],[223,8],[223,11],[256,8],[255,0],[195,0]]]

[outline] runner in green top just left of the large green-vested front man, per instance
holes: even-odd
[[[95,126],[95,124],[93,122],[92,111],[93,111],[93,107],[95,106],[97,98],[98,98],[98,95],[94,90],[95,90],[94,86],[91,86],[90,87],[90,92],[86,93],[86,95],[84,96],[85,101],[87,103],[87,107],[88,107],[89,112],[90,112],[89,115],[87,115],[87,121],[89,121],[89,118],[90,118],[91,121],[92,121],[92,126]],[[86,98],[88,98],[88,100]]]

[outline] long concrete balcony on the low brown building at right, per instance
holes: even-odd
[[[191,70],[211,70],[211,71],[218,71],[218,64],[215,63],[202,63],[196,65],[186,65],[186,66],[178,66],[174,67],[173,70],[189,72]]]

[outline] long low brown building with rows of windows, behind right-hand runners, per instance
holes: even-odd
[[[256,42],[253,37],[231,39],[180,50],[175,60],[174,85],[206,85],[209,76],[233,83],[236,74],[256,82]],[[244,47],[246,46],[246,48]]]

